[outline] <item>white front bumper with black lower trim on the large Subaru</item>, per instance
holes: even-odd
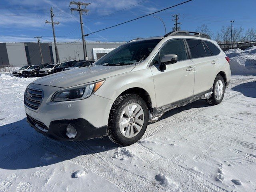
[[[33,83],[29,87],[43,90],[43,99],[38,109],[31,109],[25,105],[27,116],[39,122],[33,124],[28,118],[30,125],[38,132],[57,140],[86,140],[108,134],[107,125],[112,100],[92,94],[83,100],[51,102],[52,95],[62,88]],[[44,125],[47,133],[38,129],[35,124]],[[74,124],[78,127],[79,133],[76,138],[69,139],[66,132],[63,134],[66,131],[65,124]]]

